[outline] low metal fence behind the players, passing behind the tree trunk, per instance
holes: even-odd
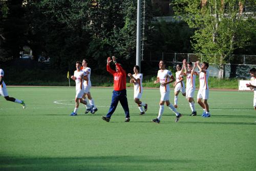
[[[148,52],[144,55],[143,60],[148,60],[152,62],[159,61],[160,59],[166,62],[182,62],[186,59],[188,62],[203,61],[207,58],[214,58],[214,63],[218,63],[218,55],[214,54],[187,54],[187,53],[164,53],[164,52]],[[256,55],[231,55],[230,59],[232,62],[228,64],[237,65],[256,65]]]

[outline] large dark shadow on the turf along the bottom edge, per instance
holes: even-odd
[[[198,161],[166,160],[146,156],[98,156],[59,158],[0,157],[0,170],[172,170],[177,164],[186,165]]]

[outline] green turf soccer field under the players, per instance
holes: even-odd
[[[0,97],[0,170],[255,170],[256,111],[253,92],[213,91],[210,118],[188,116],[189,104],[179,94],[175,114],[166,106],[160,124],[159,89],[144,89],[145,115],[127,89],[131,121],[124,123],[119,104],[110,123],[101,119],[109,110],[113,88],[91,89],[98,111],[74,110],[75,87],[8,87]],[[197,92],[195,93],[196,96]],[[173,90],[170,98],[173,103]]]

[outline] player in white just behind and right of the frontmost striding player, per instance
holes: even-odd
[[[176,81],[174,82],[174,107],[177,108],[178,107],[178,95],[179,92],[181,91],[183,96],[186,96],[186,89],[185,89],[185,84],[183,82],[183,76],[184,76],[184,72],[183,72],[183,67],[181,68],[181,65],[178,64],[176,66],[177,72],[175,73],[176,76]]]

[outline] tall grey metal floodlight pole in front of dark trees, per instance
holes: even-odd
[[[141,0],[137,0],[137,42],[136,42],[136,65],[141,62]],[[141,69],[141,67],[140,67]],[[139,71],[140,72],[140,71]]]

